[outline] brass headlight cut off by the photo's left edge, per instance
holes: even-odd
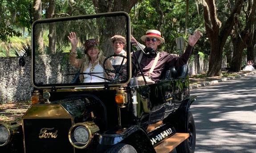
[[[20,130],[16,122],[0,122],[0,146],[8,144],[16,133],[21,133]]]

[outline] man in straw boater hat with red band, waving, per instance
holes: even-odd
[[[146,31],[146,35],[142,35],[141,39],[145,42],[145,49],[142,44],[138,43],[138,41],[131,36],[131,42],[134,43],[137,48],[142,47],[140,51],[135,52],[135,55],[138,58],[139,65],[142,68],[146,81],[148,83],[157,82],[165,68],[185,65],[192,53],[193,46],[199,38],[200,31],[195,31],[194,35],[189,36],[186,51],[183,55],[178,57],[165,51],[158,51],[158,46],[161,43],[164,43],[161,32],[158,30],[148,30]],[[155,59],[157,62],[154,62]],[[138,75],[140,75],[139,72]],[[142,77],[138,78],[142,80]]]

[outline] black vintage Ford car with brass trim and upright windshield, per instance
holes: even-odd
[[[99,42],[104,72],[71,65],[72,31],[79,40],[77,59],[85,56],[85,40]],[[156,83],[138,83],[141,67],[130,32],[125,12],[34,22],[32,105],[22,125],[0,122],[0,153],[193,153],[195,122],[189,109],[195,97],[189,94],[186,66],[163,71]],[[114,54],[113,35],[126,39],[126,56]],[[121,63],[107,67],[117,57]],[[99,79],[85,82],[81,76]]]

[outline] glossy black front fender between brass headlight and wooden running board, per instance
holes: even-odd
[[[150,138],[142,126],[128,126],[98,133],[100,145],[125,143],[132,145],[139,153],[155,153]]]

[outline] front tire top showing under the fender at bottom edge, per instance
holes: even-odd
[[[105,153],[137,153],[137,151],[131,145],[118,143],[108,149]]]

